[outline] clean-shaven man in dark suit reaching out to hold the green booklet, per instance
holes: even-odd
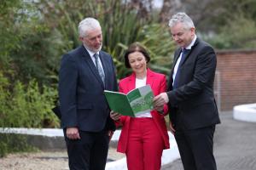
[[[170,128],[185,170],[216,170],[213,133],[220,123],[213,95],[216,54],[195,35],[187,14],[169,21],[172,38],[180,47],[174,54],[168,90],[154,98],[155,107],[170,108]]]

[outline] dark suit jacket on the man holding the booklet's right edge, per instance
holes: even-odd
[[[181,48],[174,54],[174,63],[168,82],[170,120],[176,123],[180,114],[181,126],[186,129],[207,127],[220,122],[213,94],[217,65],[216,54],[207,42],[196,39],[195,44],[180,64],[176,89],[172,89],[172,73]],[[177,113],[178,111],[178,113]]]

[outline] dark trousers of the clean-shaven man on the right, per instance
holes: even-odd
[[[184,170],[216,170],[213,156],[215,125],[197,129],[184,129],[176,123],[175,139]]]

